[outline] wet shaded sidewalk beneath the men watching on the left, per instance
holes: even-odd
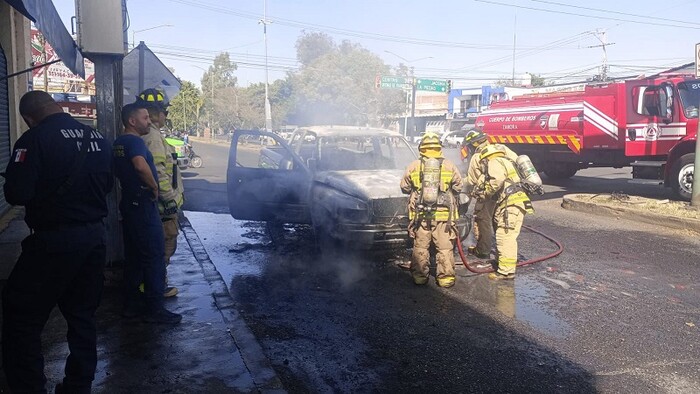
[[[28,234],[22,216],[19,211],[6,228],[0,223],[0,286]],[[169,281],[180,293],[166,300],[166,307],[181,313],[182,323],[159,326],[121,318],[121,272],[108,268],[97,312],[93,392],[284,392],[199,237],[186,218],[181,225],[178,250],[168,269]],[[42,338],[49,392],[63,378],[68,354],[65,333],[65,321],[55,309]],[[8,392],[3,373],[0,392]]]

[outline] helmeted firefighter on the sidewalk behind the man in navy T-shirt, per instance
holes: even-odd
[[[148,134],[141,138],[153,155],[153,162],[158,172],[158,210],[165,235],[164,264],[167,267],[177,249],[177,216],[185,201],[182,176],[177,170],[177,156],[173,157],[176,153],[175,148],[165,141],[165,137],[160,132],[161,128],[165,127],[165,118],[168,114],[163,94],[156,89],[146,89],[138,96],[138,101],[146,107],[151,118]],[[166,278],[165,296],[172,297],[176,294],[177,288],[167,286]]]

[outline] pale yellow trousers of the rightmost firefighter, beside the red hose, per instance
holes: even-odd
[[[518,235],[520,235],[520,228],[523,225],[525,211],[512,205],[499,208],[494,216],[498,272],[503,275],[514,274],[518,263]]]

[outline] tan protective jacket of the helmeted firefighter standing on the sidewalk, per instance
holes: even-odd
[[[153,155],[153,162],[158,172],[158,209],[160,210],[160,214],[168,218],[176,217],[177,214],[164,215],[164,203],[175,201],[177,208],[180,209],[185,201],[180,171],[177,171],[177,188],[173,188],[173,164],[177,165],[177,162],[173,160],[171,154],[175,153],[175,148],[165,141],[165,137],[163,137],[160,130],[153,124],[151,124],[148,134],[141,136],[141,138]]]

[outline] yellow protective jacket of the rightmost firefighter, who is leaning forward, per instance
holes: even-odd
[[[496,156],[483,160],[480,166],[486,171],[479,178],[482,182],[474,189],[477,197],[495,199],[496,210],[515,206],[524,213],[533,213],[532,202],[525,191],[516,187],[520,183],[515,162],[505,156]]]

